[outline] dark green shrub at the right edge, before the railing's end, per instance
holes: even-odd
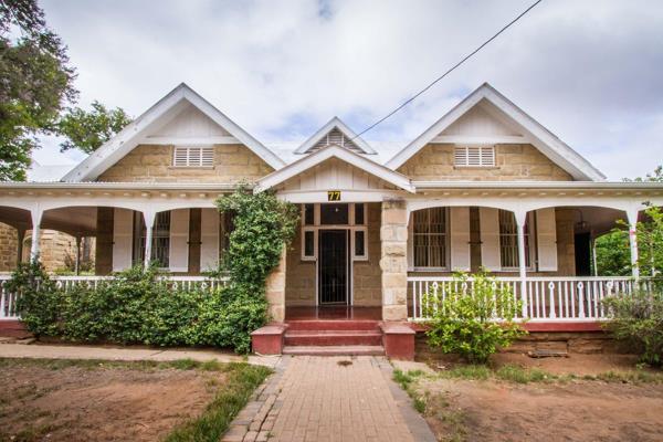
[[[628,340],[641,351],[641,361],[663,365],[663,291],[638,291],[630,296],[603,299],[611,320],[604,327],[617,339]]]

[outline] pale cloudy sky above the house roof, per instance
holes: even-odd
[[[356,131],[402,103],[533,0],[46,0],[80,105],[138,116],[186,82],[269,144],[338,115]],[[663,4],[544,0],[404,112],[365,136],[404,145],[484,82],[609,179],[663,164]],[[55,140],[42,165],[73,164]]]

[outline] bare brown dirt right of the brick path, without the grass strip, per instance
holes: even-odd
[[[532,359],[497,355],[505,364],[579,379],[515,383],[420,378],[427,420],[441,441],[663,441],[663,383],[586,380],[582,376],[634,370],[630,356],[572,355]],[[449,361],[435,368],[449,368]],[[660,372],[659,375],[660,376]]]

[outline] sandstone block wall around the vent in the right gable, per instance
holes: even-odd
[[[430,144],[398,171],[413,180],[572,181],[573,178],[532,145],[496,145],[495,167],[454,167],[454,145]]]

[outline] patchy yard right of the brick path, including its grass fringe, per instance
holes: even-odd
[[[663,372],[636,367],[572,372],[561,369],[564,359],[549,364],[552,371],[546,362],[455,364],[394,370],[393,379],[440,441],[663,440]]]

